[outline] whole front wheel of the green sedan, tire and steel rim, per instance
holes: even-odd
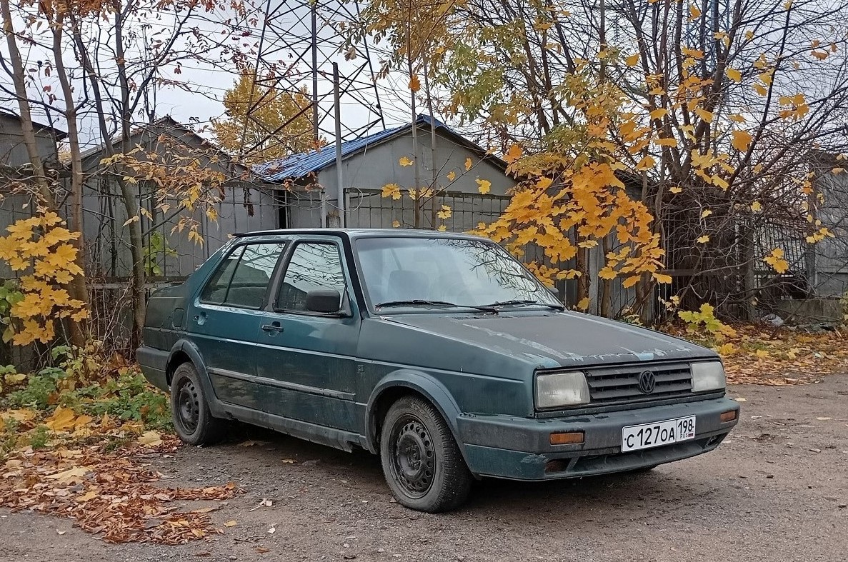
[[[471,488],[471,472],[438,410],[421,398],[393,403],[383,420],[380,459],[399,504],[439,513],[458,508]]]

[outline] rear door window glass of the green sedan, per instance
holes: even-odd
[[[237,248],[212,274],[200,299],[204,303],[261,308],[283,248],[285,244],[277,242]]]

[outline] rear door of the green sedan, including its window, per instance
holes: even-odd
[[[204,359],[215,396],[256,408],[256,332],[284,241],[233,248],[201,290],[189,313],[192,339]]]

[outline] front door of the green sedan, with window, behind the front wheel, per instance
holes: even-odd
[[[311,424],[357,431],[356,360],[360,313],[338,238],[293,242],[256,349],[262,409]],[[342,312],[306,309],[314,290],[341,294]]]

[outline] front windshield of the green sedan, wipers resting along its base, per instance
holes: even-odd
[[[535,302],[561,307],[548,289],[494,242],[360,238],[356,252],[365,292],[373,306],[530,306]]]

